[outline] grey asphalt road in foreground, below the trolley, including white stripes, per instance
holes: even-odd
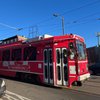
[[[40,86],[5,79],[7,91],[0,100],[100,100],[99,94],[75,89]],[[77,87],[78,88],[78,87]]]

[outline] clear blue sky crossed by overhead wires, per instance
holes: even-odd
[[[100,0],[0,0],[0,40],[62,35],[62,17],[65,34],[82,36],[87,47],[98,44]]]

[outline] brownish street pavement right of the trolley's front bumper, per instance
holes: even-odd
[[[91,94],[100,95],[100,76],[91,76],[89,80],[83,83],[81,87],[72,87],[72,89]]]

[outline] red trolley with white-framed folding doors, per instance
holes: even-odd
[[[90,77],[87,65],[84,39],[73,34],[15,36],[0,44],[0,75],[70,87]]]

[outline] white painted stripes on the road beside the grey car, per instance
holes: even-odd
[[[8,90],[6,90],[5,96],[3,98],[7,100],[31,100],[29,98],[10,92]],[[0,99],[0,100],[3,100],[3,99]]]

